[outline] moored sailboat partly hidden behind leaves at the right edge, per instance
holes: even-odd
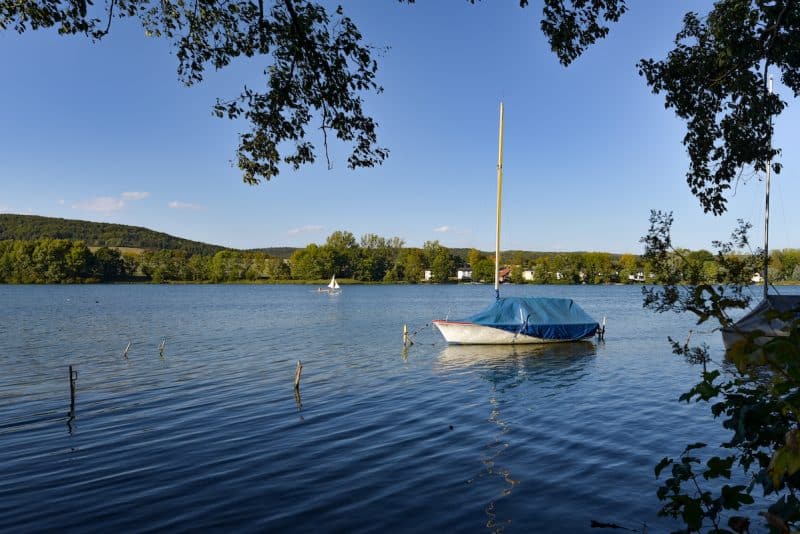
[[[772,93],[772,76],[768,81]],[[766,193],[764,206],[764,297],[749,313],[733,325],[722,328],[722,343],[729,350],[737,344],[745,343],[758,332],[757,345],[763,345],[776,337],[788,336],[794,321],[783,321],[774,317],[792,312],[794,320],[800,320],[800,295],[777,295],[769,293],[769,189],[772,162],[767,162]]]

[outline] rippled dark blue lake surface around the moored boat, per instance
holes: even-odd
[[[544,348],[433,331],[490,285],[343,289],[0,286],[0,531],[663,532],[653,467],[726,435],[667,342],[719,334],[639,287],[504,286],[608,317]]]

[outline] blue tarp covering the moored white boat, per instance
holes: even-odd
[[[572,299],[546,297],[500,298],[482,312],[459,321],[563,341],[593,336],[600,326]]]

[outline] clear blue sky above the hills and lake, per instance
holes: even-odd
[[[673,241],[710,248],[737,218],[763,237],[763,182],[729,214],[705,215],[684,174],[684,126],[635,64],[661,58],[695,1],[632,1],[609,38],[561,67],[538,29],[540,3],[347,2],[380,58],[385,92],[366,107],[390,148],[379,168],[323,164],[251,187],[231,165],[244,125],[216,97],[257,86],[261,60],[181,85],[168,43],[115,21],[99,44],[55,32],[0,33],[0,212],[145,226],[235,248],[322,243],[335,230],[409,246],[494,248],[498,105],[506,106],[504,249],[642,251],[651,208],[675,213]],[[791,94],[778,87],[784,98]],[[771,248],[800,247],[800,117],[777,123]],[[324,158],[323,158],[324,159]]]

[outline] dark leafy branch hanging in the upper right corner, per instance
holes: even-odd
[[[768,91],[777,71],[800,93],[800,4],[795,0],[721,0],[701,17],[687,13],[666,59],[642,60],[642,74],[665,106],[686,121],[686,181],[707,212],[726,210],[726,192],[747,168],[764,171],[772,118],[786,107]],[[781,170],[772,162],[773,170]]]

